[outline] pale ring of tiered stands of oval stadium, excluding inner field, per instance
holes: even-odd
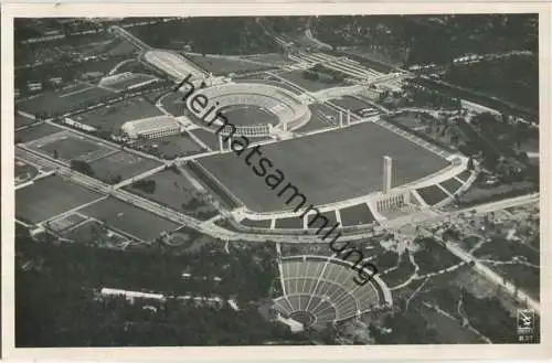
[[[270,136],[275,131],[291,131],[297,129],[310,119],[310,109],[296,95],[287,89],[273,85],[264,85],[257,83],[226,83],[215,85],[197,92],[202,94],[209,100],[209,105],[216,105],[219,109],[229,106],[253,106],[266,110],[276,116],[279,120],[277,125],[254,120],[252,125],[243,125],[245,120],[231,120],[231,124],[236,128],[235,131],[226,126],[220,131],[221,135],[251,136],[264,137]],[[191,103],[192,97],[187,99],[188,109],[193,109]],[[201,115],[197,115],[200,117]],[[242,124],[242,125],[240,125]],[[222,125],[222,121],[216,119],[214,127]],[[234,132],[233,132],[234,131]]]

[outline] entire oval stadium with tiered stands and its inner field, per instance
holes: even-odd
[[[291,92],[274,85],[226,83],[198,90],[236,127],[234,135],[262,137],[290,131],[309,121],[310,109]],[[188,109],[193,97],[187,99]],[[221,125],[215,120],[213,126]],[[224,135],[224,131],[221,134]]]

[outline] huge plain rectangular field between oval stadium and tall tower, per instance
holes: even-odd
[[[381,190],[383,156],[393,158],[393,179],[401,184],[448,164],[442,157],[373,122],[270,143],[261,150],[273,162],[273,170],[284,173],[286,181],[280,186],[290,182],[315,205]],[[286,199],[278,197],[278,190],[268,188],[264,178],[253,172],[245,163],[245,154],[240,158],[229,152],[198,161],[251,210],[286,209]]]

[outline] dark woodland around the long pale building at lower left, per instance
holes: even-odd
[[[267,246],[243,245],[229,255],[206,244],[172,256],[159,249],[54,246],[33,241],[25,231],[20,227],[17,234],[18,346],[237,345],[302,339],[267,322],[251,305],[267,296],[277,275]],[[191,277],[183,278],[183,271]],[[241,310],[171,298],[134,303],[97,299],[102,287],[169,297],[215,295],[235,298]]]

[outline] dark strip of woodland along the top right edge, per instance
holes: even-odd
[[[469,53],[538,52],[535,14],[317,17],[312,28],[332,45],[405,52],[407,64],[450,63]]]

